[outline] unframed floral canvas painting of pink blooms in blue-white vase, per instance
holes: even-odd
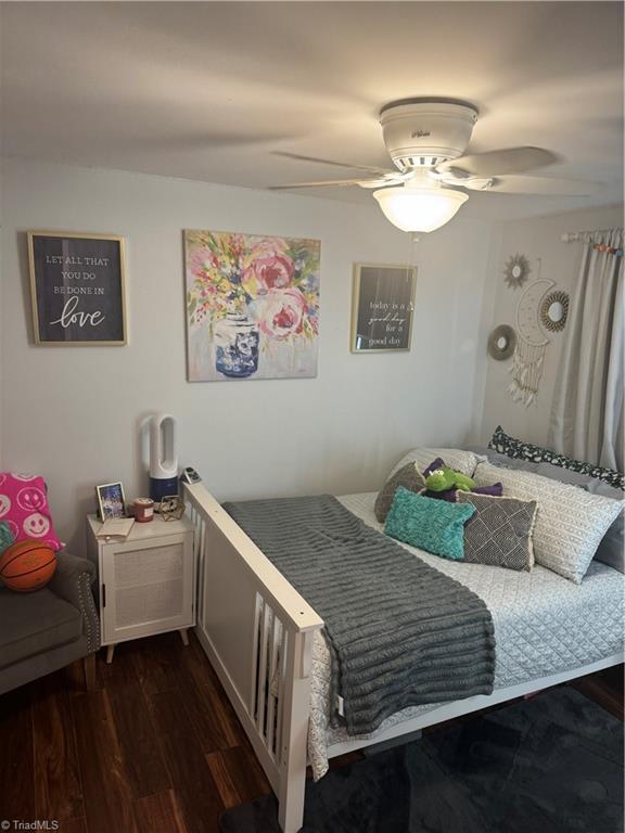
[[[318,240],[186,231],[190,382],[317,375]]]

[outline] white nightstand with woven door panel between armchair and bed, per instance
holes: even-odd
[[[135,523],[123,541],[97,538],[95,515],[87,517],[87,553],[98,571],[102,644],[106,662],[118,642],[195,625],[193,526],[186,517]]]

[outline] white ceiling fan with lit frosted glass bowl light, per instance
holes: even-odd
[[[582,196],[600,190],[574,179],[526,176],[559,161],[543,148],[508,148],[464,154],[477,110],[450,99],[408,99],[380,113],[384,144],[396,170],[275,151],[276,155],[360,170],[368,176],[273,185],[275,190],[359,185],[372,189],[380,207],[404,231],[434,231],[469,198],[468,191]]]

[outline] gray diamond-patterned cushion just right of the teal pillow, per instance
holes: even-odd
[[[508,569],[532,569],[535,500],[459,491],[458,502],[472,503],[476,510],[464,524],[464,561]]]

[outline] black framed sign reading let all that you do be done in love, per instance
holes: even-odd
[[[36,344],[126,344],[124,238],[28,232]]]

